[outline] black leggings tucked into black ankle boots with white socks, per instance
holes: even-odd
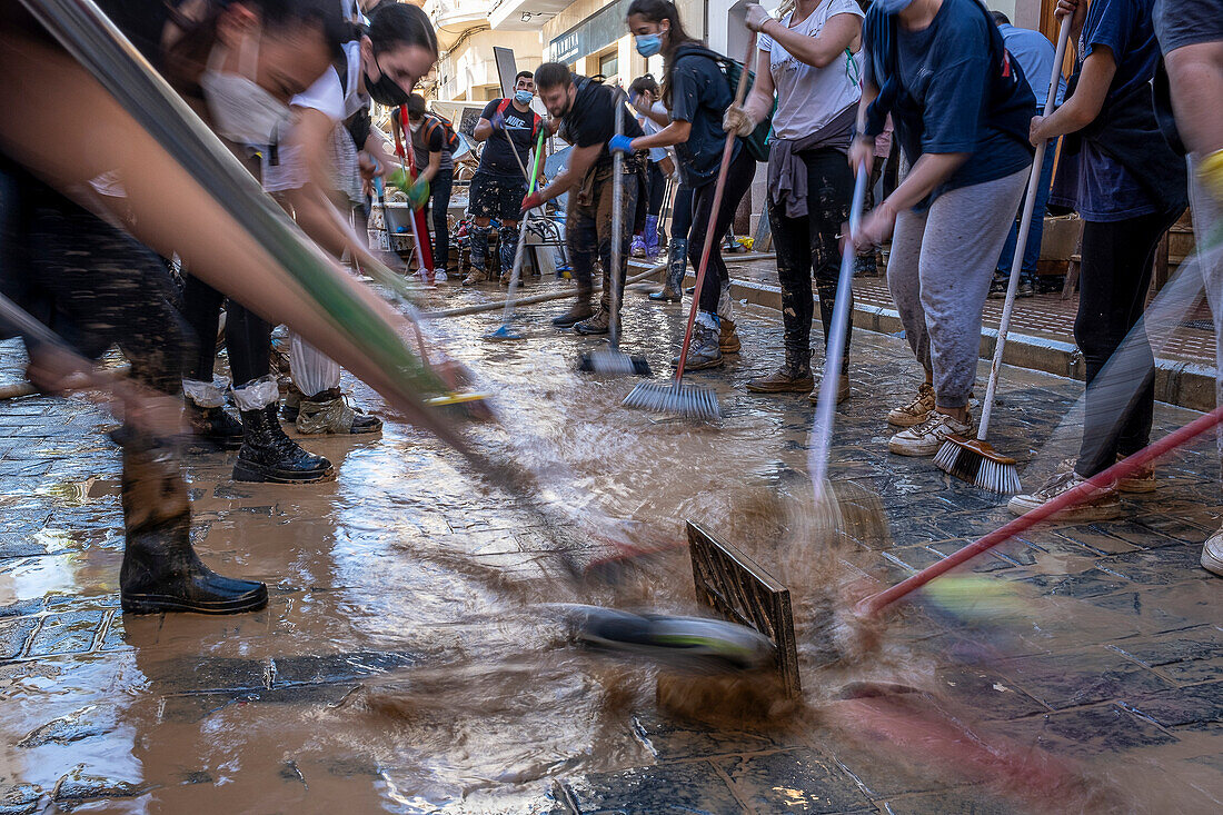
[[[199,382],[213,381],[213,362],[216,359],[216,321],[225,301],[216,289],[186,275],[182,289],[182,316],[198,339],[182,370],[182,376]],[[272,326],[258,314],[235,301],[225,311],[225,348],[229,351],[230,373],[235,385],[265,377],[272,372]]]

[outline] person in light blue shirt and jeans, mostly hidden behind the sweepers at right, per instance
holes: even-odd
[[[1011,26],[1010,18],[1000,11],[991,13],[998,23],[1003,44],[1007,45],[1007,50],[1010,51],[1010,55],[1024,69],[1024,76],[1027,77],[1029,84],[1032,86],[1032,93],[1036,94],[1036,109],[1038,111],[1044,110],[1044,102],[1049,95],[1049,77],[1053,76],[1053,59],[1057,56],[1053,43],[1038,31]],[[1053,98],[1054,104],[1062,104],[1065,89],[1065,80],[1059,80],[1058,93]],[[1057,155],[1057,140],[1051,140],[1044,148],[1047,160],[1041,165],[1041,180],[1036,187],[1036,201],[1032,204],[1032,223],[1027,228],[1027,244],[1024,246],[1024,264],[1019,270],[1018,296],[1020,297],[1031,297],[1036,294],[1036,264],[1041,259],[1041,239],[1044,236],[1044,210],[1049,201],[1049,186],[1053,184],[1053,165],[1057,164],[1053,157]],[[1019,210],[1022,214],[1022,202],[1020,202]],[[1007,244],[1002,248],[1002,257],[998,258],[998,273],[989,286],[989,297],[992,300],[1007,296],[1007,283],[1010,279],[1010,267],[1015,259],[1018,237],[1019,219],[1016,218],[1015,223],[1010,225],[1010,234],[1007,235]]]

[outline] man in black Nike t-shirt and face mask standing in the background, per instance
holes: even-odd
[[[477,142],[484,142],[479,169],[471,180],[467,213],[472,219],[471,274],[464,285],[483,283],[488,274],[488,236],[492,219],[500,221],[501,283],[509,285],[514,255],[519,246],[519,204],[527,193],[522,166],[530,169],[530,153],[543,127],[543,119],[531,110],[534,76],[519,71],[514,78],[514,97],[493,99],[484,105],[472,130]],[[519,163],[522,163],[520,166]]]

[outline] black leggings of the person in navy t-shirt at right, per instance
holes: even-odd
[[[1099,387],[1092,387],[1142,317],[1159,237],[1180,212],[1118,221],[1084,221],[1079,314],[1074,338],[1087,365],[1086,415],[1075,471],[1091,477],[1118,454],[1147,445],[1155,406],[1155,357],[1145,330],[1134,332]]]

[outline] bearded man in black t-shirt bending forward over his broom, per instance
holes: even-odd
[[[624,115],[624,132],[615,132],[615,106],[624,104],[619,88],[599,84],[585,76],[569,72],[559,62],[547,62],[536,71],[539,99],[560,126],[559,135],[572,144],[567,166],[552,184],[522,201],[523,212],[543,206],[570,190],[565,217],[565,246],[569,250],[574,277],[577,279],[577,302],[566,313],[553,319],[559,328],[580,334],[607,334],[612,324],[612,153],[613,138],[631,140],[642,136],[641,125],[630,111]],[[642,174],[640,153],[629,153],[624,162],[624,219],[620,235],[620,268],[624,281],[629,262],[629,239],[637,226],[637,202],[641,199]],[[640,220],[645,221],[645,214]],[[603,267],[603,299],[599,311],[591,308],[593,290],[592,269],[596,250]]]

